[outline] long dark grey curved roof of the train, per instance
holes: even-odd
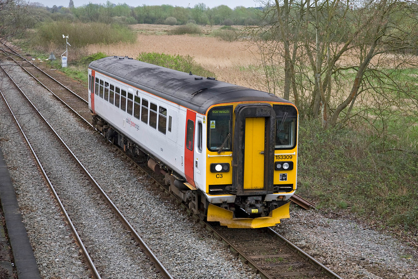
[[[206,114],[212,105],[231,102],[290,103],[267,92],[204,78],[127,57],[111,56],[102,58],[91,62],[89,68],[201,114]]]

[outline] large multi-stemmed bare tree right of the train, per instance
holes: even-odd
[[[418,64],[416,1],[274,0],[265,5],[265,24],[253,29],[257,44],[269,46],[260,47],[263,68],[282,72],[271,77],[283,78],[283,97],[320,117],[324,128],[343,125],[365,106],[377,107],[376,101],[413,104],[411,98],[395,99],[394,92],[411,97],[418,90],[406,85],[408,78],[395,78],[400,69]]]

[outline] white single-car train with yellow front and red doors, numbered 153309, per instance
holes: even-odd
[[[129,57],[89,64],[94,128],[147,160],[195,214],[275,226],[297,189],[298,109],[274,94]]]

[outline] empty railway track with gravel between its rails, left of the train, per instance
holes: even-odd
[[[101,272],[106,275],[114,273],[110,270],[113,266],[117,266],[114,255],[119,253],[122,255],[121,257],[124,257],[122,262],[126,261],[135,266],[135,268],[131,268],[133,277],[140,271],[139,273],[144,274],[145,278],[172,278],[75,153],[55,132],[46,118],[42,116],[41,109],[38,110],[35,107],[16,81],[7,74],[6,69],[3,66],[0,67],[10,79],[10,87],[16,87],[14,91],[8,90],[7,94],[1,93],[2,98],[31,149],[51,192],[54,194],[60,210],[63,212],[72,234],[83,252],[84,260],[92,276],[101,278]],[[36,129],[33,129],[34,126]],[[41,132],[41,137],[39,137],[39,132]],[[48,147],[45,148],[45,146]],[[81,173],[83,174],[81,175]],[[94,189],[99,191],[113,213],[110,213],[109,209],[106,212]],[[64,200],[64,202],[61,200]],[[86,205],[91,206],[89,212],[85,212]],[[102,215],[106,217],[103,218]],[[122,229],[117,225],[115,226],[112,223],[111,215],[116,215],[126,228]],[[73,218],[70,218],[70,216],[73,216]],[[97,230],[96,228],[101,229]],[[92,234],[92,230],[95,231],[94,234]],[[100,233],[98,233],[99,231]],[[129,233],[138,244],[138,248],[131,248],[131,239],[127,237]],[[109,237],[120,239],[121,243],[110,245],[110,247],[104,246],[103,243]],[[84,243],[82,238],[85,240]],[[138,255],[143,256],[138,257]],[[143,267],[142,270],[141,266]],[[149,270],[147,268],[149,266],[154,266],[156,269]]]

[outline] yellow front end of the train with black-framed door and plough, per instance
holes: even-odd
[[[229,228],[289,218],[297,184],[298,111],[286,102],[235,102],[206,119],[207,220]]]

